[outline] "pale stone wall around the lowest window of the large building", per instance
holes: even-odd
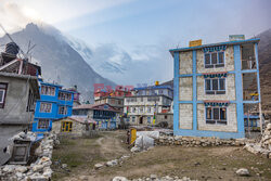
[[[198,130],[237,132],[236,104],[227,107],[227,125],[210,125],[205,122],[205,105],[197,104],[197,126]]]

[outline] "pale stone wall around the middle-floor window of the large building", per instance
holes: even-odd
[[[204,76],[197,76],[197,100],[235,100],[235,75],[229,74],[225,78],[225,94],[206,94],[205,93],[205,78]]]

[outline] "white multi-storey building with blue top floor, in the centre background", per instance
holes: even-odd
[[[173,90],[170,86],[134,88],[132,95],[125,98],[124,113],[131,125],[154,125],[155,115],[171,112]]]

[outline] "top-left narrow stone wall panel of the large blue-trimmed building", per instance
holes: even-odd
[[[180,53],[179,74],[192,74],[192,52]]]

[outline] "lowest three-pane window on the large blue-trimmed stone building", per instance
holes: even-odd
[[[206,107],[206,124],[227,125],[227,108]]]

